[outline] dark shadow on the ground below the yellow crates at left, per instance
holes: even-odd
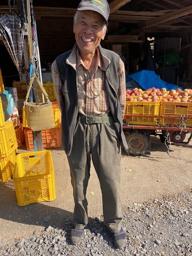
[[[0,182],[0,195],[2,220],[46,227],[62,225],[65,218],[72,217],[72,212],[55,207],[54,201],[18,206],[13,180]],[[50,216],[50,223],[44,221],[47,216]]]

